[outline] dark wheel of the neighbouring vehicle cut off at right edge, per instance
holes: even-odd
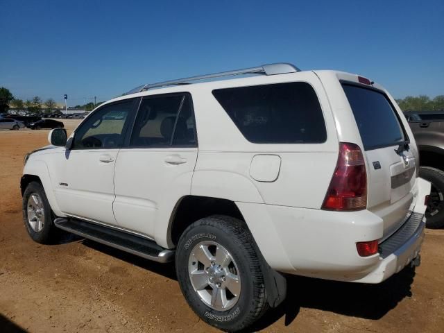
[[[420,178],[432,183],[425,217],[427,228],[444,228],[444,171],[432,167],[420,167]]]

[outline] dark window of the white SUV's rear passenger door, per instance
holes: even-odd
[[[130,146],[196,146],[189,94],[144,98],[137,113]]]

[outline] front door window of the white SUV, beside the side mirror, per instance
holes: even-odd
[[[74,136],[74,149],[119,148],[133,110],[134,99],[105,105],[94,111]]]

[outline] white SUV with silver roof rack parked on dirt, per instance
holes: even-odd
[[[284,273],[378,283],[420,263],[429,182],[393,97],[356,74],[273,64],[144,85],[49,142],[25,159],[31,237],[176,259],[189,305],[223,330],[280,304]]]

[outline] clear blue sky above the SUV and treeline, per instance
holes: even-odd
[[[444,1],[0,0],[0,86],[110,99],[143,83],[292,62],[444,94]]]

